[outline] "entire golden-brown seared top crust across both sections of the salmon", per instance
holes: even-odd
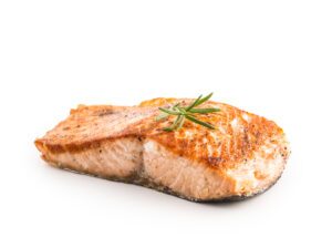
[[[280,146],[284,157],[289,154],[283,149],[287,148],[283,131],[274,122],[222,103],[205,103],[203,106],[219,107],[221,111],[198,116],[216,126],[216,130],[185,122],[181,130],[165,132],[163,127],[174,120],[170,116],[156,122],[157,107],[178,101],[187,104],[193,100],[155,99],[134,107],[79,106],[44,137],[38,138],[35,145],[39,149],[45,147],[52,153],[80,152],[98,147],[103,142],[114,138],[147,137],[179,156],[214,168],[234,167],[251,159],[267,142]]]

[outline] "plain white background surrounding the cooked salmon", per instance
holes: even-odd
[[[331,247],[331,1],[0,1],[0,247]],[[278,184],[195,204],[46,166],[71,107],[214,100],[282,126]]]

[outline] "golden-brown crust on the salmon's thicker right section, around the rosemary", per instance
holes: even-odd
[[[155,99],[145,101],[142,106],[170,105],[179,100]],[[180,100],[186,104],[193,100]],[[283,144],[283,131],[272,121],[250,114],[237,107],[217,102],[204,104],[208,107],[219,107],[221,111],[207,115],[199,115],[201,121],[208,122],[217,128],[211,131],[193,122],[186,122],[184,128],[177,132],[164,132],[162,128],[170,125],[170,121],[143,122],[137,124],[145,136],[153,138],[174,153],[201,162],[217,168],[234,167],[241,162],[253,158],[256,152],[264,153],[261,146],[271,143],[282,146],[280,151],[287,158],[289,151]],[[174,117],[173,117],[174,118]],[[174,121],[174,120],[172,120]],[[286,148],[286,149],[284,149]],[[263,154],[272,156],[271,154]]]

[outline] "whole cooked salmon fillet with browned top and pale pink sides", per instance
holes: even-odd
[[[80,105],[35,140],[49,164],[154,188],[195,202],[241,199],[262,193],[281,176],[290,154],[272,121],[208,101],[220,112],[165,132],[174,116],[156,121],[159,106],[189,99],[154,99],[137,106]]]

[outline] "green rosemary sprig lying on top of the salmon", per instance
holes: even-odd
[[[199,106],[200,104],[208,101],[212,96],[212,94],[214,93],[210,93],[204,97],[203,97],[203,95],[199,95],[188,106],[180,106],[179,103],[176,103],[175,105],[173,105],[169,108],[159,107],[159,111],[162,113],[156,117],[156,121],[164,120],[164,118],[168,117],[169,115],[177,116],[175,122],[170,126],[164,128],[164,131],[168,131],[168,132],[181,128],[185,120],[191,121],[196,124],[199,124],[207,128],[214,130],[215,127],[211,124],[196,118],[196,115],[195,115],[195,114],[208,114],[208,113],[214,113],[214,112],[220,111],[220,108],[215,108],[215,107],[197,108],[197,106]]]

